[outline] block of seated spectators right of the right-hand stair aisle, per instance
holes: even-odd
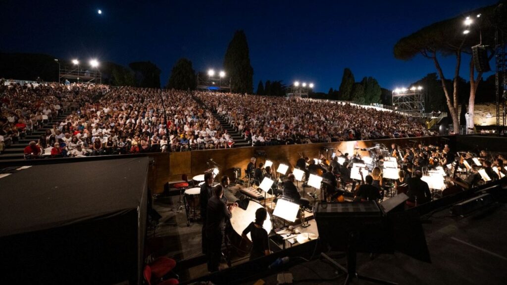
[[[340,102],[196,92],[252,146],[435,135],[415,118]]]

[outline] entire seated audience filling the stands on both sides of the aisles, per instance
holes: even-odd
[[[200,105],[202,103],[205,107]],[[40,129],[25,158],[231,148],[235,141],[211,111],[253,146],[432,135],[389,111],[309,99],[108,87],[0,84],[0,153]]]

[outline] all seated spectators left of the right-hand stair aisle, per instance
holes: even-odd
[[[8,124],[2,126],[8,132],[8,138],[15,142],[26,130],[42,125],[39,117],[43,117],[37,114],[47,114],[45,120],[51,121],[61,109],[72,110],[70,115],[46,129],[37,141],[29,143],[24,149],[26,159],[44,155],[83,157],[190,151],[234,145],[227,130],[222,131],[220,122],[210,111],[200,108],[187,92],[102,88],[76,84],[5,88],[1,98],[4,102],[3,122]],[[93,100],[98,91],[107,94]],[[24,126],[21,132],[22,128],[16,126],[30,118],[30,125]],[[13,129],[19,133],[13,133]]]

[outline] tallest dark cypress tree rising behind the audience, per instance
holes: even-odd
[[[231,91],[237,93],[252,93],[253,68],[246,35],[242,30],[236,31],[229,43],[224,57],[224,69],[231,78]]]

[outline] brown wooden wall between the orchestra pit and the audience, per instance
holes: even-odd
[[[355,153],[354,147],[369,148],[374,146],[375,142],[390,148],[391,143],[402,147],[412,147],[414,141],[423,142],[424,145],[443,146],[449,144],[452,149],[455,149],[453,136],[431,136],[153,154],[150,155],[153,157],[154,163],[150,166],[149,187],[153,194],[158,194],[164,191],[164,184],[180,180],[182,174],[187,174],[189,180],[194,175],[203,174],[209,168],[206,165],[209,159],[220,164],[219,176],[226,174],[233,177],[233,169],[236,167],[241,168],[241,176],[244,176],[244,169],[250,158],[256,156],[256,151],[264,151],[266,159],[273,161],[275,167],[278,167],[279,163],[284,163],[289,166],[289,171],[292,172],[300,153],[313,159],[318,157],[319,152],[326,155],[324,148],[333,148],[352,155]],[[329,158],[331,158],[331,154],[332,152],[329,152]],[[368,155],[368,152],[360,152],[360,155]],[[257,164],[260,162],[265,162],[265,158],[257,158]]]

